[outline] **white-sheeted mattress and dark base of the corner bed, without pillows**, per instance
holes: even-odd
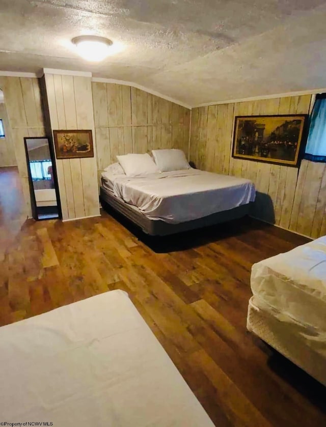
[[[194,168],[138,177],[102,173],[100,199],[145,233],[162,236],[248,214],[255,186]]]

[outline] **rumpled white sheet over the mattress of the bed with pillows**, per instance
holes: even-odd
[[[102,173],[104,188],[151,219],[179,223],[227,211],[255,200],[254,184],[198,169],[142,177]]]

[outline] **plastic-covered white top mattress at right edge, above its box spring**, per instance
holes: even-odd
[[[251,289],[261,309],[326,342],[326,236],[254,264]]]

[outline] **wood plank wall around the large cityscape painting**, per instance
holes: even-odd
[[[253,216],[313,238],[326,234],[326,164],[294,167],[233,159],[235,116],[303,114],[311,95],[211,105],[192,110],[190,160],[196,167],[251,179]]]

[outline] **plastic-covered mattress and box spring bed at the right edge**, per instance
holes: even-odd
[[[252,267],[247,328],[326,385],[326,236]]]

